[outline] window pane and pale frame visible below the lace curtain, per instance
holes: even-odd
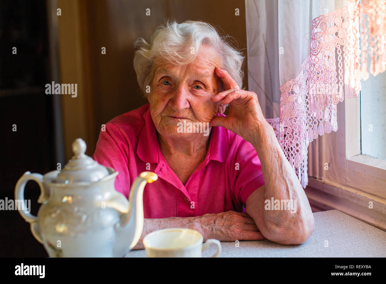
[[[382,83],[384,76],[386,73],[378,74],[376,77],[370,75],[366,81],[361,81],[360,97],[345,97],[343,137],[345,137],[346,185],[386,199],[386,160],[382,159],[382,155],[385,157],[386,153],[384,149],[386,121],[383,108],[376,99],[379,97],[381,100],[384,97],[378,95],[382,94],[381,85],[386,86]],[[376,82],[379,82],[378,85]]]

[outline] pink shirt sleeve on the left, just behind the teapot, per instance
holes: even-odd
[[[107,123],[105,131],[100,131],[97,146],[92,158],[105,167],[119,172],[115,179],[115,190],[126,198],[129,196],[129,146],[119,128]]]

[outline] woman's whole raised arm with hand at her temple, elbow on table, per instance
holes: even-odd
[[[248,197],[245,212],[268,240],[286,245],[304,243],[315,227],[311,207],[272,126],[262,114],[256,93],[240,89],[226,70],[215,68],[215,72],[225,91],[211,100],[229,104],[230,109],[227,116],[213,117],[209,126],[223,126],[239,134],[254,146],[261,162],[265,185]],[[271,202],[272,198],[279,200],[280,205],[284,200],[296,204],[296,212],[265,210],[264,206],[269,204],[265,201]]]

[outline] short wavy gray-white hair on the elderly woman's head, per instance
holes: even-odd
[[[234,48],[227,39],[206,22],[187,20],[178,24],[168,20],[159,26],[147,43],[139,37],[134,44],[134,70],[141,92],[147,96],[146,86],[150,85],[154,75],[154,61],[163,58],[174,65],[185,65],[195,60],[202,44],[215,48],[221,62],[220,68],[227,70],[237,85],[242,89],[244,72],[244,54]],[[194,53],[191,54],[191,48]],[[222,91],[222,90],[220,90]]]

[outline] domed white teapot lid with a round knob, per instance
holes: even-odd
[[[74,156],[56,177],[57,183],[97,182],[109,175],[107,168],[85,155],[86,142],[78,138],[72,144]]]

